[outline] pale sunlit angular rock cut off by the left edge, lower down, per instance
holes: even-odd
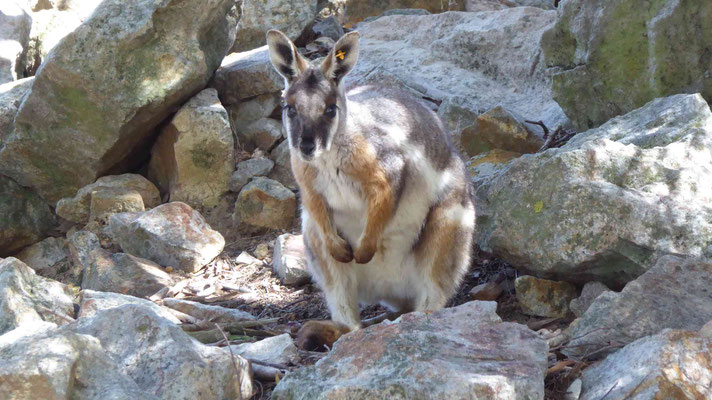
[[[35,274],[16,258],[0,259],[0,335],[26,323],[74,318],[71,289]]]

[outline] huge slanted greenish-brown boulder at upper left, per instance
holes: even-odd
[[[0,173],[56,202],[137,162],[234,41],[235,0],[106,0],[51,51],[0,150]]]

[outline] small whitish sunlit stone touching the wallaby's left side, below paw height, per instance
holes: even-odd
[[[272,269],[285,285],[299,286],[311,281],[301,235],[285,233],[275,240]]]

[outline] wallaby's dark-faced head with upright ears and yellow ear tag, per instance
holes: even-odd
[[[290,146],[304,161],[329,151],[346,122],[341,83],[358,59],[358,38],[357,32],[344,35],[317,68],[282,32],[267,32],[270,60],[284,77],[282,122]]]

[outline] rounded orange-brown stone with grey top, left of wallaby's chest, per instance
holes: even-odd
[[[296,196],[277,181],[257,177],[237,197],[234,219],[257,228],[289,229],[297,213]]]

